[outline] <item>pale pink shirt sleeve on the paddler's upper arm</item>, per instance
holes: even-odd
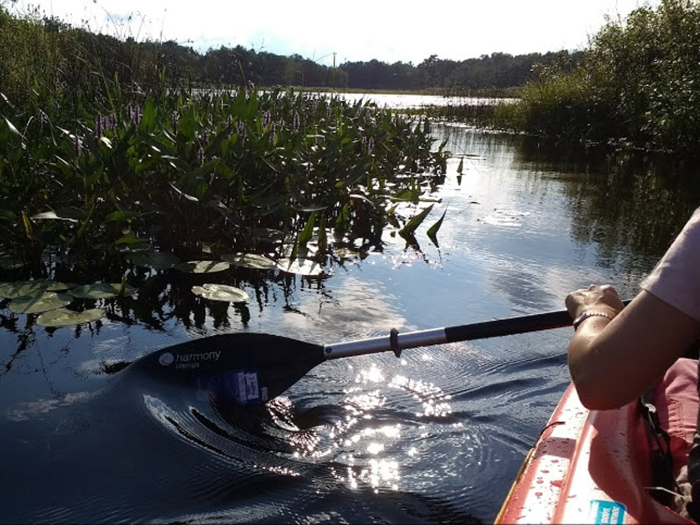
[[[641,287],[700,321],[700,208]]]

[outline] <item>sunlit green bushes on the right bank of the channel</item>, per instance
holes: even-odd
[[[662,0],[609,20],[573,69],[541,68],[500,125],[557,137],[700,152],[700,4]]]

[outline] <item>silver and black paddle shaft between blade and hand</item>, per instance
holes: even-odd
[[[623,302],[627,305],[630,301],[627,300]],[[571,326],[572,323],[573,321],[569,313],[566,310],[560,310],[556,312],[512,317],[510,319],[498,319],[495,321],[485,321],[461,326],[406,332],[405,334],[392,331],[392,334],[388,337],[359,339],[345,343],[325,345],[323,347],[323,355],[325,359],[338,359],[340,357],[391,351],[398,355],[402,350],[406,350],[407,348],[524,334],[526,332],[537,332],[540,330],[550,330],[552,328],[564,328],[566,326]]]

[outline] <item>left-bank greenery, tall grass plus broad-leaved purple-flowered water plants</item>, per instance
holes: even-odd
[[[0,274],[119,282],[137,261],[208,273],[253,254],[316,275],[381,250],[387,227],[413,241],[449,155],[427,119],[249,80],[197,89],[144,45],[0,4]]]

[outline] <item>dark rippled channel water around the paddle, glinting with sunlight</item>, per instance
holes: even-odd
[[[559,310],[594,282],[631,297],[700,205],[663,160],[435,133],[455,158],[420,251],[387,234],[323,280],[217,277],[243,307],[155,273],[77,329],[0,303],[0,522],[492,521],[569,382],[569,330],[327,362],[252,412],[123,369],[219,333],[324,344]]]

